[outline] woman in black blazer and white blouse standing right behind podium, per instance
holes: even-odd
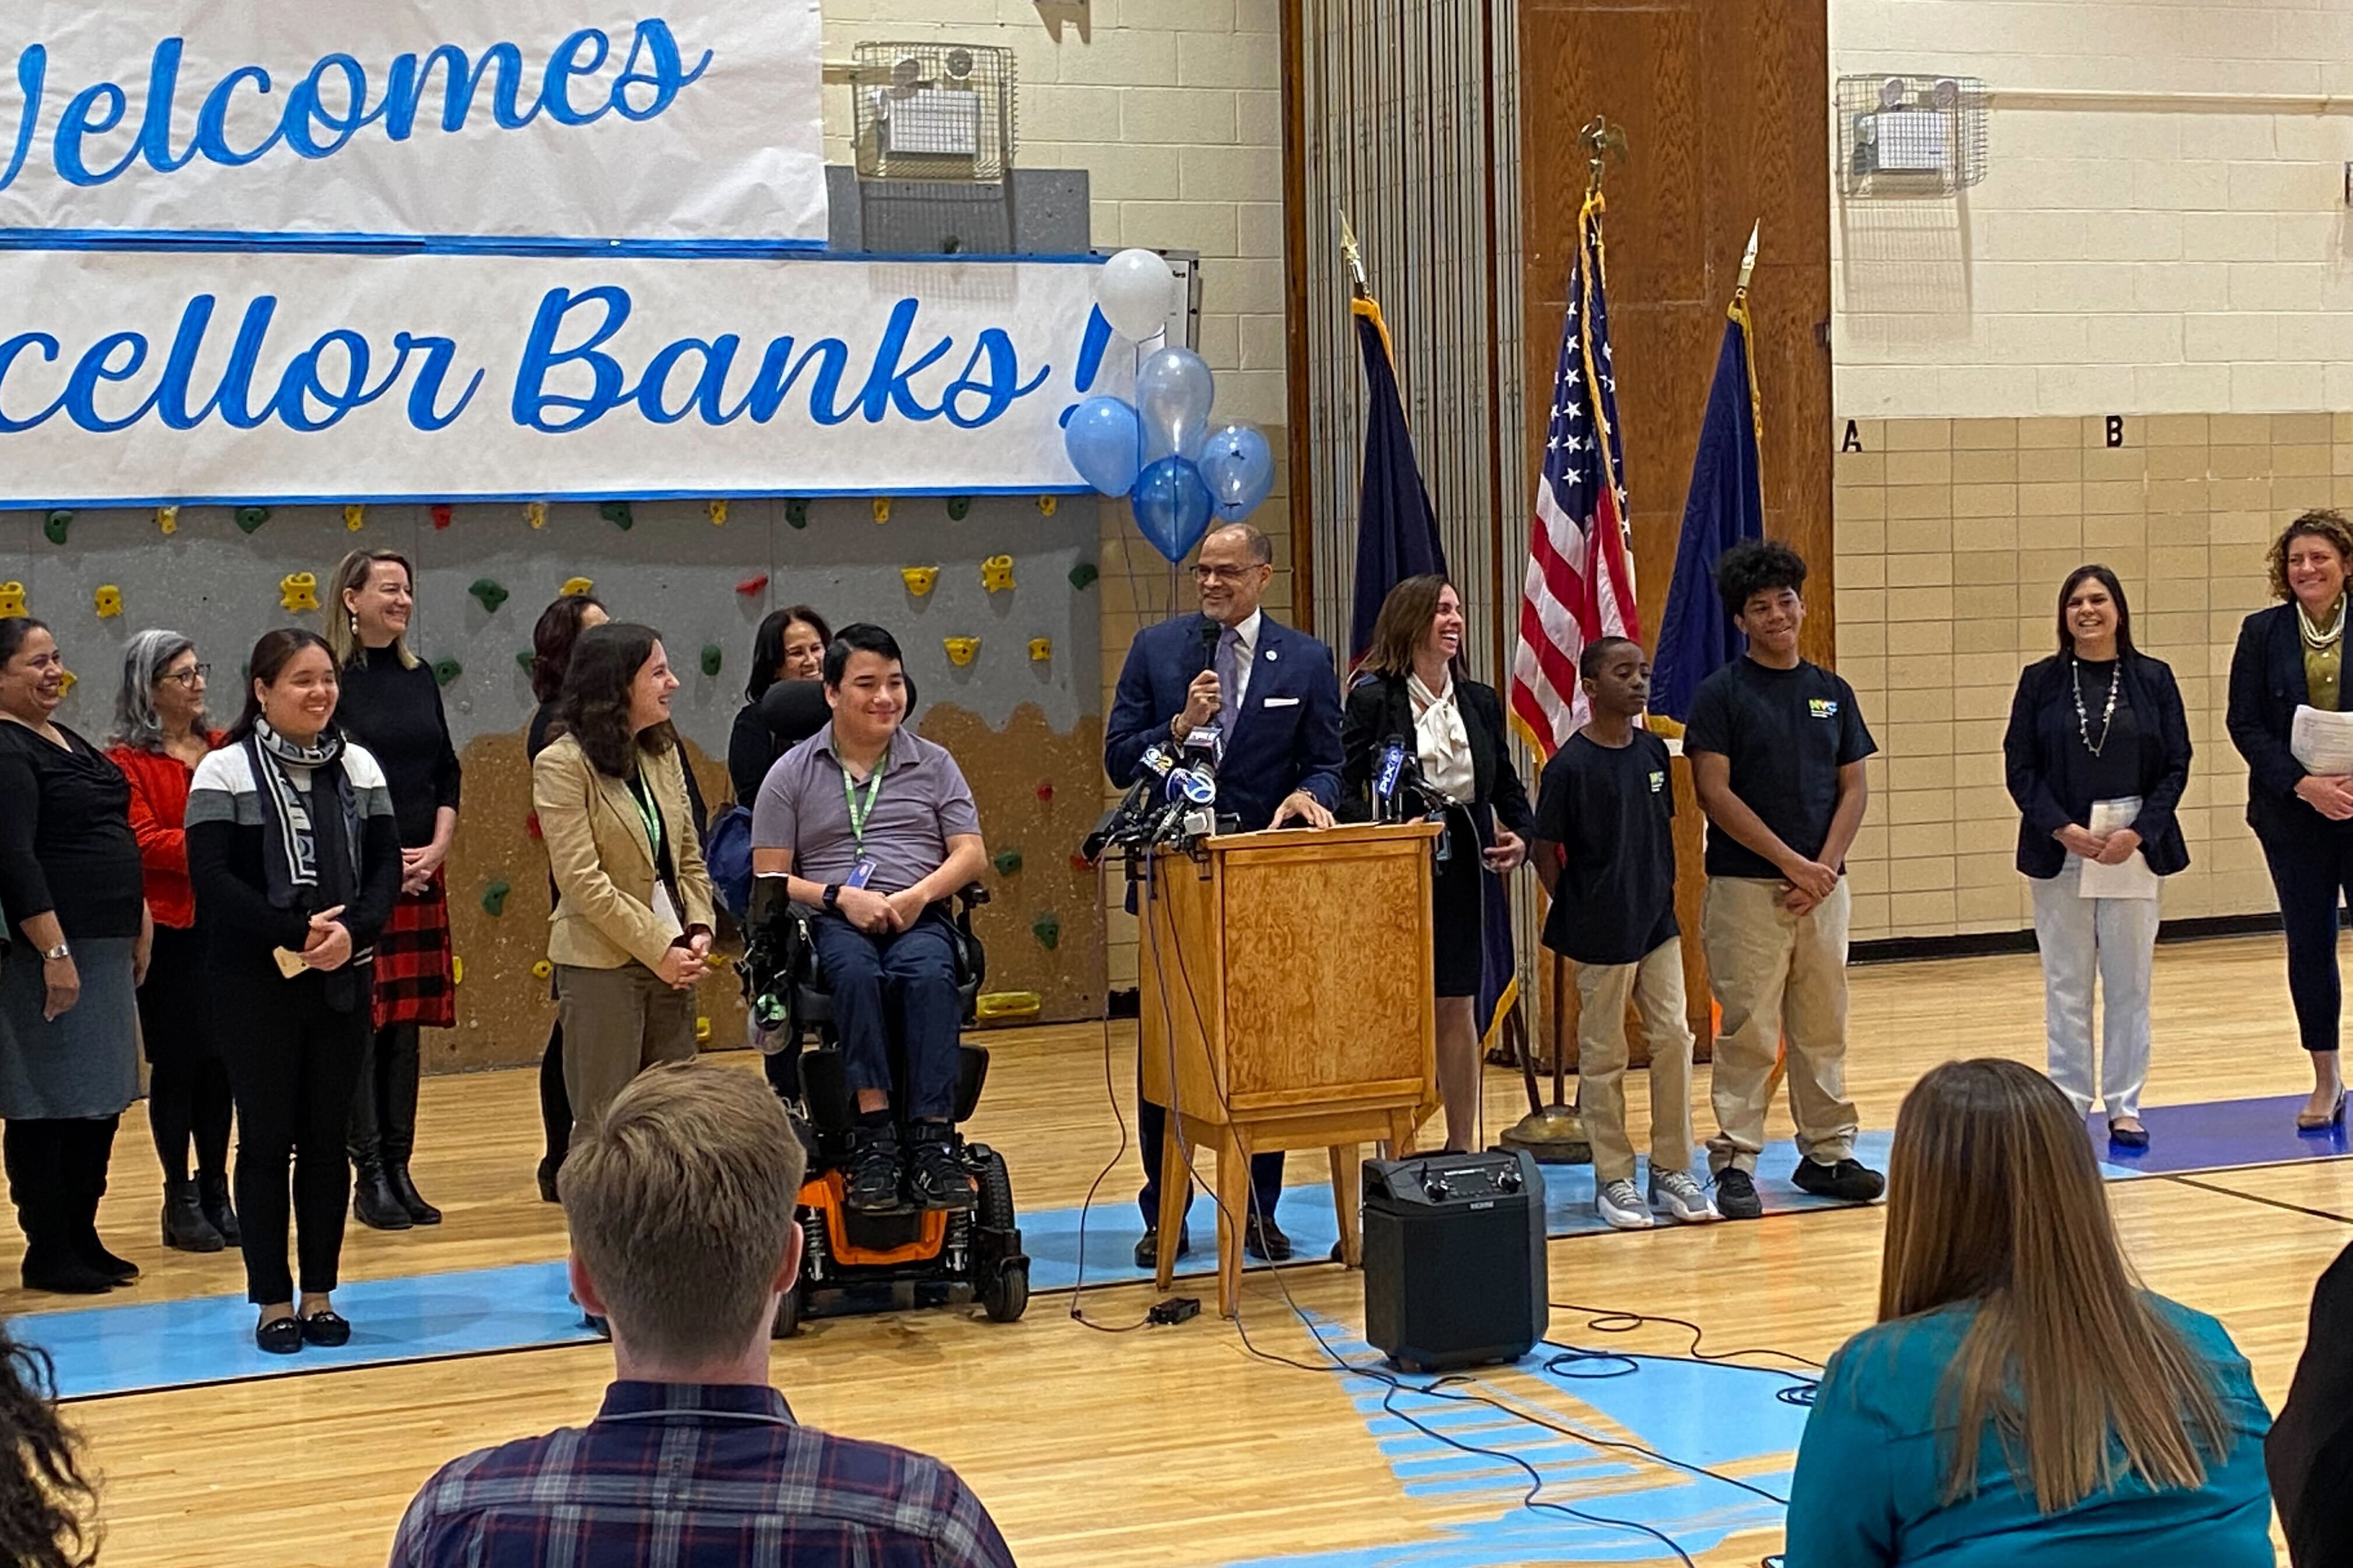
[[[1438,863],[1433,940],[1438,947],[1438,1100],[1447,1150],[1478,1140],[1478,997],[1485,966],[1480,865],[1511,872],[1527,860],[1534,811],[1511,766],[1504,703],[1494,686],[1461,677],[1464,604],[1442,576],[1412,576],[1388,590],[1372,625],[1372,649],[1341,712],[1341,813],[1377,816],[1377,776],[1391,741],[1419,764],[1424,785],[1452,802],[1452,853]],[[1475,853],[1473,853],[1475,851]]]

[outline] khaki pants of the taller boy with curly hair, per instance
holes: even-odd
[[[1715,1034],[1715,1138],[1708,1168],[1755,1173],[1765,1147],[1772,1065],[1788,1041],[1788,1110],[1798,1152],[1821,1164],[1854,1157],[1847,1098],[1847,884],[1807,914],[1781,907],[1769,877],[1711,877],[1699,917],[1708,983],[1725,1011]],[[569,1048],[569,1041],[567,1041]]]

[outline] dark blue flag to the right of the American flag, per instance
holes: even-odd
[[[1748,649],[1715,592],[1715,557],[1744,538],[1765,538],[1765,482],[1758,470],[1755,371],[1748,364],[1748,306],[1732,303],[1725,348],[1715,355],[1708,418],[1692,458],[1692,494],[1682,503],[1675,581],[1666,590],[1659,651],[1652,656],[1649,710],[1675,719],[1692,715],[1692,693]]]

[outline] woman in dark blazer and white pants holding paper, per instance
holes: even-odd
[[[2141,1084],[2158,879],[2191,863],[2174,820],[2191,729],[2174,672],[2132,646],[2132,607],[2106,567],[2078,567],[2061,583],[2059,651],[2019,677],[2002,764],[2021,813],[2019,870],[2035,891],[2052,1081],[2089,1114],[2097,978],[2108,1138],[2148,1147]]]

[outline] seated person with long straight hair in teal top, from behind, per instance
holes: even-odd
[[[2268,1425],[2221,1324],[2134,1286],[2059,1086],[1944,1063],[1897,1114],[1880,1324],[1814,1392],[1788,1568],[2271,1568]]]

